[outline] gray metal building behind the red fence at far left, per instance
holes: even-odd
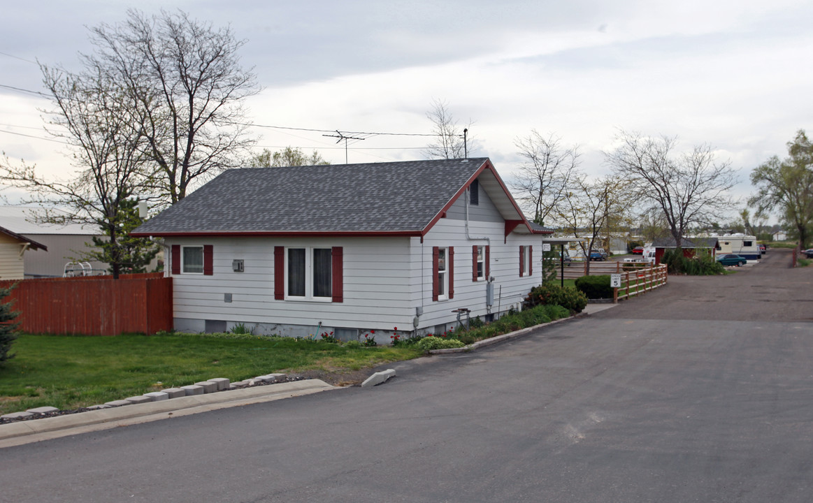
[[[62,276],[65,264],[79,260],[81,252],[90,250],[86,244],[93,242],[93,236],[100,236],[98,229],[89,230],[75,223],[36,223],[34,210],[24,206],[0,206],[0,225],[48,248],[47,253],[25,254],[26,278]],[[107,271],[105,262],[89,262],[89,267],[94,275]]]

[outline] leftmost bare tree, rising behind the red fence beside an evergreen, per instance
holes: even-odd
[[[80,223],[102,229],[102,253],[85,257],[109,262],[114,278],[132,268],[133,254],[154,248],[146,240],[125,236],[124,219],[144,190],[147,158],[141,117],[126,106],[121,89],[98,67],[80,74],[42,67],[43,82],[54,102],[48,131],[70,145],[78,168],[71,180],[47,180],[33,166],[0,163],[0,179],[25,189],[28,201],[44,206],[37,219],[47,223]],[[153,254],[154,256],[154,254]]]

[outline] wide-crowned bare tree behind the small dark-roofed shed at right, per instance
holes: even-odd
[[[645,210],[663,215],[678,248],[690,226],[708,223],[733,207],[728,190],[737,181],[735,172],[730,163],[715,161],[710,146],[677,154],[673,137],[621,131],[616,140],[620,146],[605,153],[606,163],[628,180]]]

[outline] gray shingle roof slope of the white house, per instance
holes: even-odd
[[[133,234],[420,232],[486,161],[229,170]]]

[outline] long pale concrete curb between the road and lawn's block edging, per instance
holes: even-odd
[[[158,419],[198,414],[208,410],[298,397],[328,389],[337,388],[320,379],[306,379],[207,395],[191,395],[172,400],[150,401],[109,409],[88,410],[53,418],[18,421],[0,425],[0,448],[59,438],[60,436],[76,435],[87,431],[98,431],[129,424],[147,423]]]

